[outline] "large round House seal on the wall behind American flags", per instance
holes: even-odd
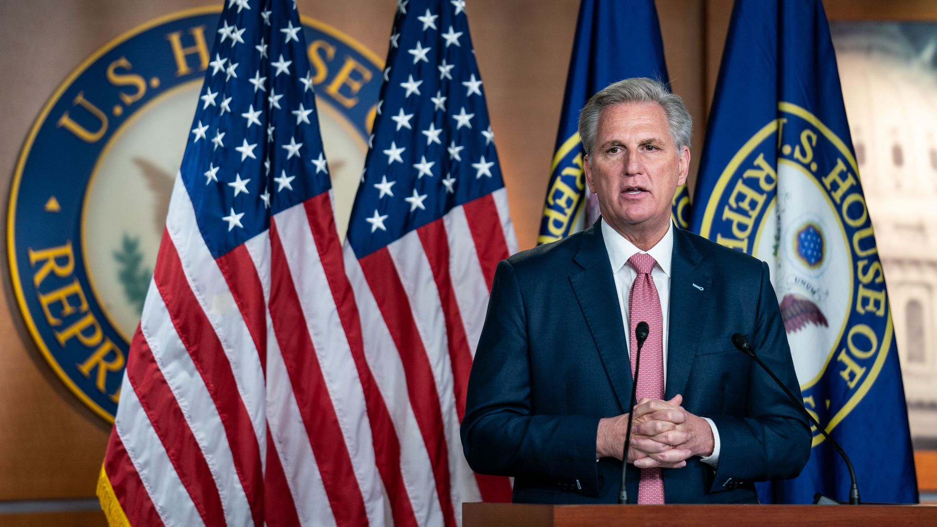
[[[214,68],[219,13],[173,13],[93,53],[42,108],[13,175],[7,255],[23,320],[62,382],[109,421],[187,128]],[[383,65],[334,28],[303,23],[343,233]]]

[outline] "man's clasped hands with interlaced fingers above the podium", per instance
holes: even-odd
[[[634,407],[628,462],[635,467],[680,468],[693,456],[712,455],[714,439],[706,419],[680,406],[683,397],[641,399]],[[621,459],[628,414],[604,417],[596,436],[596,457]]]

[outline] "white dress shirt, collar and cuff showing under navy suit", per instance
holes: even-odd
[[[631,328],[628,320],[628,298],[632,292],[632,284],[637,278],[637,272],[628,264],[628,259],[635,252],[644,252],[636,248],[632,242],[625,239],[624,236],[617,233],[605,220],[602,219],[602,239],[605,242],[605,249],[608,251],[608,262],[612,265],[612,276],[615,278],[615,289],[618,293],[618,306],[621,308],[621,321],[625,326],[625,335],[631,335]],[[654,287],[657,288],[657,294],[661,297],[661,314],[663,324],[662,346],[663,346],[663,379],[667,382],[667,340],[670,335],[670,263],[674,256],[674,224],[671,223],[667,233],[663,235],[661,241],[654,247],[647,250],[657,264],[654,264],[651,270],[651,279],[654,279]],[[631,337],[625,339],[626,347]],[[629,360],[631,354],[629,354]],[[719,463],[719,430],[712,419],[703,417],[709,423],[712,429],[713,447],[712,455],[701,459],[704,463],[715,467]]]

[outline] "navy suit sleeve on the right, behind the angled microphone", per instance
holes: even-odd
[[[748,336],[755,353],[788,389],[800,393],[778,299],[771,287],[767,264],[762,263],[755,325]],[[727,481],[750,482],[796,477],[811,454],[807,418],[753,360],[750,364],[744,417],[707,415],[719,429],[721,453],[711,491]],[[728,486],[726,486],[728,487]]]

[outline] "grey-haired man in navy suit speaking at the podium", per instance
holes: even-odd
[[[731,340],[799,393],[767,265],[670,220],[691,131],[662,83],[597,93],[579,135],[602,218],[498,264],[462,444],[476,472],[514,477],[514,502],[616,502],[640,322],[632,503],[756,503],[754,481],[810,456],[806,419]]]

